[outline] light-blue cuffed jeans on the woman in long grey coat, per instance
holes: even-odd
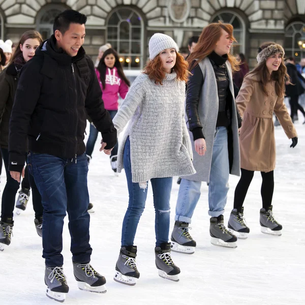
[[[211,217],[224,214],[229,191],[229,172],[227,128],[217,127],[208,185],[208,215]],[[191,223],[193,212],[200,198],[200,188],[201,181],[181,179],[176,204],[176,221]]]

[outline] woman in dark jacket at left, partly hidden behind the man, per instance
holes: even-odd
[[[13,210],[15,205],[16,193],[19,189],[19,182],[13,179],[9,172],[9,153],[8,153],[8,137],[9,137],[9,121],[11,111],[14,103],[15,93],[19,80],[19,73],[23,65],[35,55],[36,49],[42,43],[42,37],[37,31],[25,32],[19,43],[18,47],[11,59],[10,65],[0,75],[0,148],[4,160],[4,165],[7,174],[7,183],[2,194],[2,207],[1,207],[1,222],[0,222],[0,250],[3,245],[9,245],[12,236],[13,227]],[[41,204],[41,196],[35,185],[33,176],[26,173],[31,184],[33,191],[33,207],[35,210],[35,226],[37,233],[41,236],[42,230],[42,215],[43,207]],[[24,179],[26,181],[26,179]],[[25,183],[25,182],[24,182]],[[22,191],[19,193],[19,200],[16,207],[25,209],[28,194],[29,184],[23,184]]]

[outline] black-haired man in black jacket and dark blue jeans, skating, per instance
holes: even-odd
[[[54,34],[24,66],[10,120],[9,169],[16,180],[27,164],[42,196],[43,257],[47,296],[59,301],[69,291],[63,272],[63,225],[69,216],[74,276],[80,289],[105,292],[106,280],[89,264],[86,113],[110,154],[116,130],[104,108],[94,64],[82,48],[86,16],[68,10],[54,21]]]

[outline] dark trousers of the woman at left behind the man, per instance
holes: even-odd
[[[7,222],[7,218],[13,218],[13,210],[15,207],[16,194],[19,189],[19,182],[11,177],[9,172],[9,152],[6,148],[1,148],[3,163],[6,169],[7,182],[2,193],[2,205],[1,205],[1,220]],[[23,188],[29,189],[31,185],[32,188],[32,200],[33,208],[35,211],[35,217],[38,218],[43,215],[43,206],[41,204],[41,196],[36,187],[34,177],[28,173],[27,168],[25,169],[25,175],[27,175],[27,180],[25,179]],[[27,183],[29,181],[29,184]],[[23,182],[23,181],[22,181]]]

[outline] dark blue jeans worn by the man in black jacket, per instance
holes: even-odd
[[[86,155],[75,159],[62,159],[47,154],[27,156],[28,169],[34,175],[42,197],[42,246],[46,265],[62,266],[63,226],[66,211],[69,216],[72,260],[88,263],[92,248],[89,245],[90,217],[87,212],[88,162]]]

